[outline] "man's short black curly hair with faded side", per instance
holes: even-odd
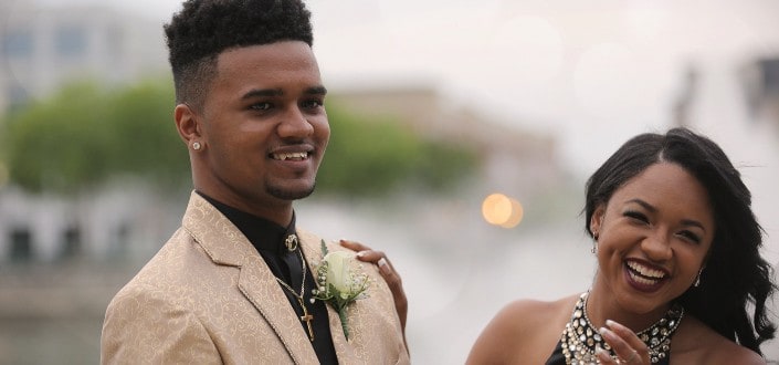
[[[165,25],[176,102],[200,108],[225,50],[280,41],[314,42],[301,0],[189,0]]]

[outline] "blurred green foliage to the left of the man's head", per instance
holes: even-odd
[[[80,82],[11,115],[2,133],[11,181],[61,194],[123,173],[180,182],[189,164],[171,121],[170,84],[109,90]]]

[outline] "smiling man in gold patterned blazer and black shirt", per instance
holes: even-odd
[[[194,191],[182,227],[106,311],[102,363],[408,363],[406,296],[383,253],[338,313],[312,301],[322,239],[295,226],[329,139],[299,0],[190,0],[166,25]],[[330,244],[330,251],[345,250]],[[397,312],[396,312],[397,311]]]

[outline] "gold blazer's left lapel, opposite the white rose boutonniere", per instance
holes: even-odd
[[[194,191],[190,196],[183,227],[214,264],[239,268],[239,290],[273,327],[293,361],[316,364],[316,353],[297,314],[265,261],[243,233]]]

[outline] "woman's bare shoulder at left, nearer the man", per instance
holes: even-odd
[[[517,354],[525,361],[550,355],[578,298],[506,304],[476,340],[467,363],[512,363]]]

